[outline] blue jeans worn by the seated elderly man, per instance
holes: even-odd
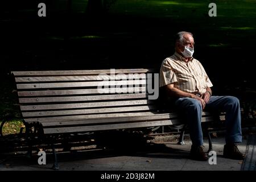
[[[189,133],[193,145],[203,145],[201,128],[202,106],[200,101],[193,98],[178,98],[176,109],[189,126]],[[212,96],[205,105],[204,111],[225,112],[226,143],[242,142],[240,102],[233,96]]]

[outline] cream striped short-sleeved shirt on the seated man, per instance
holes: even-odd
[[[203,65],[192,57],[188,63],[184,57],[175,52],[163,60],[160,68],[159,86],[174,84],[174,87],[184,92],[203,94],[206,88],[213,86]]]

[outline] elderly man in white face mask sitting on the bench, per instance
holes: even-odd
[[[204,152],[201,129],[201,112],[226,113],[226,144],[224,156],[244,159],[236,143],[242,142],[240,103],[233,96],[213,96],[212,82],[201,63],[192,57],[194,39],[190,32],[176,35],[175,53],[163,60],[159,86],[167,94],[184,121],[188,123],[192,140],[191,156],[196,160],[208,160]]]

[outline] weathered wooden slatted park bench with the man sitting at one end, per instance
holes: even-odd
[[[151,69],[12,73],[24,123],[44,135],[182,124],[149,99],[148,83],[158,80]],[[213,120],[203,113],[202,122]]]

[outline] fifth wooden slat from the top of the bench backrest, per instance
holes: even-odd
[[[98,101],[98,100],[125,100],[132,98],[146,98],[146,93],[134,94],[112,94],[98,96],[71,96],[71,97],[36,97],[19,98],[20,103],[40,103],[40,102],[76,102],[76,101]]]

